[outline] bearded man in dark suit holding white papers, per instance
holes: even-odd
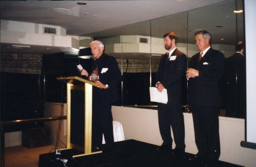
[[[165,49],[158,71],[156,87],[159,92],[167,89],[167,104],[158,103],[158,123],[163,144],[158,150],[172,149],[171,127],[176,144],[173,154],[183,156],[185,153],[184,116],[181,110],[181,78],[187,69],[187,56],[176,48],[178,36],[174,32],[164,35]]]

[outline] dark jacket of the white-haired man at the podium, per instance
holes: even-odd
[[[109,88],[99,89],[100,98],[105,101],[115,102],[118,100],[117,84],[121,82],[122,75],[118,68],[117,62],[114,57],[103,53],[100,56],[98,65],[99,81],[102,84],[108,84]],[[103,69],[104,68],[104,69]],[[104,73],[103,70],[106,70]],[[98,89],[98,88],[97,88]]]

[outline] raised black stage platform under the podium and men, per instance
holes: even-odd
[[[67,159],[67,167],[199,167],[186,160],[178,159],[169,152],[157,151],[157,146],[136,141],[125,140],[115,143],[115,149],[107,156],[94,154],[72,158],[83,154],[75,149],[62,150],[61,155],[55,153],[41,154],[38,167],[65,167],[60,159]],[[188,157],[193,156],[187,154]],[[241,167],[219,161],[216,167]]]

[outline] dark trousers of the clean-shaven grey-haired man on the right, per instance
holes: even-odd
[[[219,107],[191,106],[197,156],[218,160],[221,154],[219,135]]]

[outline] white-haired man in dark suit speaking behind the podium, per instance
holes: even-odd
[[[102,42],[93,41],[90,48],[96,59],[91,73],[83,69],[80,71],[81,77],[86,76],[102,87],[93,87],[92,93],[92,152],[102,150],[103,155],[108,155],[114,149],[111,103],[118,100],[117,84],[121,82],[122,76],[115,58],[104,53]],[[104,148],[102,133],[106,142]]]

